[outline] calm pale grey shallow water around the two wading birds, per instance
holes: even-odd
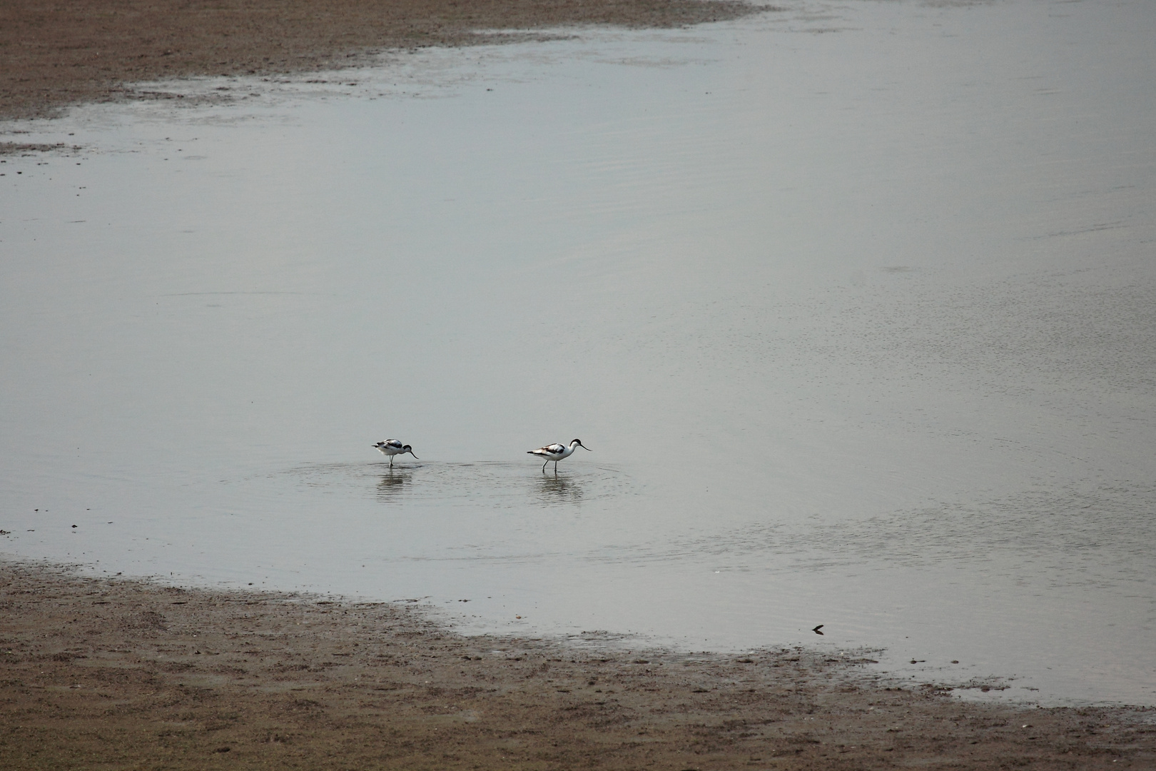
[[[788,2],[7,124],[81,149],[0,156],[0,554],[1156,704],[1153,39]]]

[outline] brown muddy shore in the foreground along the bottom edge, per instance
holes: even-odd
[[[418,608],[0,563],[0,766],[1153,768],[1151,710],[968,703],[864,652],[462,637]]]

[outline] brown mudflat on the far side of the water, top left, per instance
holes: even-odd
[[[298,73],[386,50],[525,39],[480,30],[669,28],[754,10],[731,0],[13,0],[0,5],[0,119],[172,98],[132,88],[140,81]]]

